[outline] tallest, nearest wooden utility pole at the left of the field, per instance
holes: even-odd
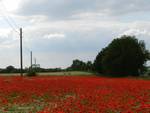
[[[23,62],[22,62],[22,28],[20,28],[20,75],[23,76]]]

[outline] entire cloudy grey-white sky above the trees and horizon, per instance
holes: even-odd
[[[0,0],[0,67],[24,67],[30,51],[41,67],[95,59],[114,38],[135,35],[150,50],[150,0]]]

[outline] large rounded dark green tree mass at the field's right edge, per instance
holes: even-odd
[[[94,67],[96,71],[110,75],[139,75],[149,59],[144,41],[124,35],[114,39],[97,55]]]

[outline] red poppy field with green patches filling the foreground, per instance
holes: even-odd
[[[96,76],[0,77],[0,113],[150,113],[150,81]]]

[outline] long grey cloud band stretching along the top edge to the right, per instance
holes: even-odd
[[[67,19],[85,12],[122,15],[150,10],[150,0],[26,0],[22,1],[22,15],[47,15],[52,19]]]

